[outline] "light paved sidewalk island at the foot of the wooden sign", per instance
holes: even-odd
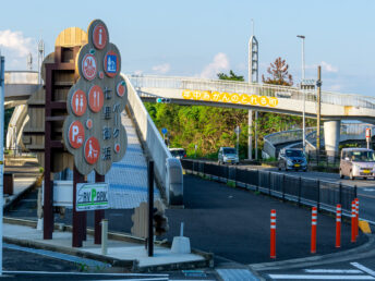
[[[3,223],[3,241],[20,246],[98,260],[105,262],[114,271],[131,270],[144,272],[209,267],[211,258],[209,255],[177,254],[172,253],[170,248],[157,245],[154,248],[154,257],[148,257],[144,243],[131,242],[131,237],[120,234],[111,235],[113,239],[108,240],[108,252],[107,255],[104,255],[101,254],[101,245],[94,244],[93,235],[87,235],[87,241],[84,241],[83,247],[74,248],[72,247],[71,232],[55,231],[52,240],[43,240],[43,231],[36,230],[35,227],[36,223],[33,221],[5,219],[5,223]]]

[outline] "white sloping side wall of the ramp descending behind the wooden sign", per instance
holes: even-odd
[[[162,188],[161,194],[166,196],[168,204],[182,205],[181,163],[174,161],[133,85],[126,76],[123,77],[128,85],[128,106],[147,152],[155,162],[155,175]]]

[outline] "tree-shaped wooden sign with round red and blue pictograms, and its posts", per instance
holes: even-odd
[[[120,161],[126,150],[126,132],[121,123],[121,112],[128,99],[128,89],[120,75],[121,57],[116,45],[109,41],[106,24],[95,20],[88,26],[88,44],[83,46],[76,61],[80,78],[66,99],[69,115],[63,124],[65,147],[74,157],[73,186],[73,246],[82,246],[85,230],[84,216],[76,209],[76,184],[82,175],[96,171],[96,181],[112,162]],[[102,210],[95,213],[95,242],[98,242],[99,220]],[[83,221],[84,220],[84,221]]]

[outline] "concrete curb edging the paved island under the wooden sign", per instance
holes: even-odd
[[[37,222],[33,220],[24,220],[24,219],[14,219],[14,218],[3,218],[4,223],[9,224],[17,224],[17,225],[26,225],[31,228],[36,228]],[[61,228],[61,223],[55,223],[55,230],[62,231],[72,231],[71,225],[64,225]],[[87,234],[94,235],[94,229],[87,229]],[[108,232],[108,239],[114,241],[123,241],[123,242],[131,242],[137,244],[145,244],[144,239],[135,237],[129,234],[119,233],[119,232]],[[82,258],[94,259],[102,262],[107,262],[111,265],[113,268],[122,268],[126,270],[131,270],[133,272],[157,272],[157,271],[168,271],[168,270],[181,270],[181,269],[194,269],[194,268],[203,268],[203,267],[214,267],[214,254],[206,253],[198,249],[192,249],[192,254],[199,255],[204,258],[204,260],[196,260],[196,261],[183,261],[183,262],[176,262],[176,264],[161,264],[156,266],[146,266],[140,267],[137,260],[129,260],[129,259],[118,259],[112,257],[107,257],[98,254],[87,253],[85,251],[81,251],[78,248],[71,248],[65,246],[56,246],[46,244],[44,242],[36,242],[31,240],[19,240],[14,237],[3,237],[3,241],[9,244],[16,244],[20,246],[25,247],[33,247],[39,249],[47,249],[51,252],[58,252],[62,254],[68,254],[72,256],[77,256]],[[168,243],[159,243],[160,246],[167,245],[170,246],[171,244]]]

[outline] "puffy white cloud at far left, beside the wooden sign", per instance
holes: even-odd
[[[5,56],[8,70],[25,70],[28,53],[33,54],[34,65],[37,61],[35,39],[25,37],[22,32],[0,30],[0,49],[2,56]]]

